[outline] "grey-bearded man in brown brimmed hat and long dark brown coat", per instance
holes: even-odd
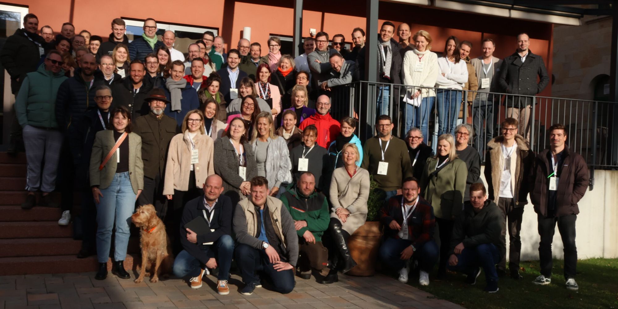
[[[170,104],[163,89],[154,88],[145,101],[150,112],[138,117],[133,123],[133,132],[142,137],[144,161],[144,190],[137,198],[137,203],[154,205],[157,216],[165,218],[167,198],[163,195],[163,172],[167,163],[167,147],[178,133],[177,123],[172,117],[163,114],[166,104]]]

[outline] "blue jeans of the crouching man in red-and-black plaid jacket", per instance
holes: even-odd
[[[384,239],[384,243],[380,246],[379,256],[383,261],[383,265],[386,265],[391,269],[402,269],[405,266],[405,261],[401,260],[401,252],[404,251],[409,245],[412,245],[412,241],[407,239],[395,239],[387,237]],[[433,266],[438,262],[439,249],[435,240],[430,240],[423,243],[417,248],[417,251],[412,255],[411,260],[418,260],[418,267],[422,271],[429,273]]]

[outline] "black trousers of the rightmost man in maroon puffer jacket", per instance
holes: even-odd
[[[556,223],[564,245],[564,279],[575,278],[577,272],[577,247],[575,247],[575,221],[577,214],[569,214],[561,217],[546,218],[537,215],[538,230],[541,235],[539,243],[539,258],[541,262],[541,274],[551,277],[553,261],[551,259],[551,242],[554,239]]]

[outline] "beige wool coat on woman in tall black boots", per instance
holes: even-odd
[[[347,185],[348,181],[350,182],[349,185]],[[350,211],[350,216],[345,220],[345,223],[341,222],[342,228],[350,235],[352,235],[358,227],[365,224],[367,219],[369,187],[369,172],[362,167],[358,167],[352,179],[350,179],[350,175],[345,171],[345,166],[336,168],[332,172],[331,189],[329,191],[332,203],[331,218],[339,219],[339,216],[335,213],[339,207]],[[341,199],[339,199],[339,195],[341,195]],[[339,221],[341,221],[341,219],[339,219]]]

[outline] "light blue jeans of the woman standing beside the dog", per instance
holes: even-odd
[[[96,255],[99,263],[107,263],[114,230],[114,261],[124,261],[129,245],[129,225],[135,211],[135,192],[129,172],[116,173],[109,187],[99,189],[103,197],[96,205]],[[96,202],[95,202],[96,203]]]

